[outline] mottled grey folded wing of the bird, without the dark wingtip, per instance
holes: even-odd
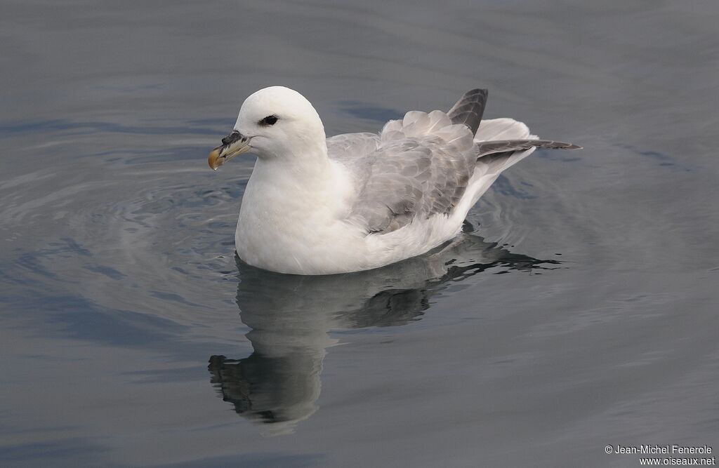
[[[449,214],[462,198],[476,155],[441,142],[403,140],[377,148],[355,169],[359,193],[350,221],[368,234],[386,234],[414,219]]]

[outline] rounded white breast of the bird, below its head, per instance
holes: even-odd
[[[258,160],[242,197],[237,254],[250,265],[284,273],[357,270],[366,261],[365,236],[343,221],[353,189],[339,166],[308,175]]]

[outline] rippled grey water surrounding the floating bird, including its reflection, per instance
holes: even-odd
[[[715,1],[1,1],[0,466],[633,467],[719,450]],[[485,87],[537,151],[462,235],[243,265],[281,84],[328,135]]]

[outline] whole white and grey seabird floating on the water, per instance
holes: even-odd
[[[326,138],[312,104],[283,86],[247,97],[210,168],[257,155],[239,210],[235,247],[249,265],[295,275],[370,270],[454,238],[500,173],[536,148],[513,119],[482,120],[486,89],[449,111],[409,111],[379,134]]]

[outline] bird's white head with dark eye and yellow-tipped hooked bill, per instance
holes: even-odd
[[[225,161],[252,151],[267,160],[299,160],[326,155],[324,126],[310,101],[284,86],[252,93],[239,109],[234,132],[209,157],[217,169]]]

